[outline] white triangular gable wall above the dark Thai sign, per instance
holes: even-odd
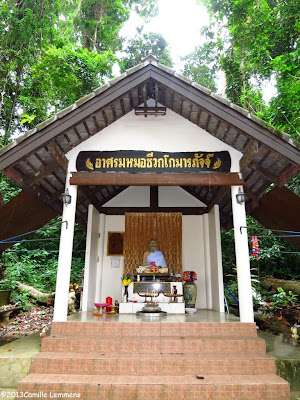
[[[231,156],[231,172],[239,171],[242,154],[216,139],[171,110],[165,116],[136,116],[134,111],[115,121],[101,132],[70,150],[69,171],[76,171],[79,151],[146,150],[146,151],[224,151]]]

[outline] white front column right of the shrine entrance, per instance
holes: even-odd
[[[245,203],[238,204],[236,195],[240,186],[231,187],[232,199],[232,214],[234,226],[234,241],[235,241],[235,256],[237,267],[237,280],[239,291],[239,310],[241,322],[253,322],[253,301],[251,288],[251,273],[248,247],[247,229],[241,226],[246,226],[246,210]],[[241,187],[241,190],[243,188]]]

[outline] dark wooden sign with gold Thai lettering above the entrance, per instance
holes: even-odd
[[[230,172],[228,151],[167,153],[119,150],[81,151],[77,171],[99,172]]]

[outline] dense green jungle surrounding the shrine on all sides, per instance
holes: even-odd
[[[201,32],[203,45],[182,58],[178,72],[217,93],[225,92],[233,103],[299,140],[300,2],[196,2],[207,8],[210,23]],[[126,38],[121,28],[133,11],[143,23],[135,37]],[[123,72],[148,54],[172,67],[164,37],[145,32],[158,12],[156,0],[1,0],[0,147],[113,78],[116,67]],[[221,89],[220,73],[226,82]],[[263,97],[266,82],[276,88],[268,102]],[[299,183],[300,175],[287,187],[299,195]],[[0,206],[20,190],[0,174]],[[261,227],[251,217],[248,224]],[[276,316],[282,307],[299,306],[300,292],[270,289],[263,277],[299,281],[300,254],[271,231],[262,232],[259,258],[250,257],[255,304],[266,302],[269,309],[274,304]],[[55,290],[59,234],[57,218],[1,255],[0,286],[12,289],[11,302],[24,310],[38,302],[16,282],[45,293]],[[85,232],[77,226],[70,283],[79,282],[84,249]],[[232,230],[222,232],[222,251],[224,282],[237,296]]]

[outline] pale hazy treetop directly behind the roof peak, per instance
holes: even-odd
[[[129,40],[124,54],[126,56],[122,57],[120,61],[122,72],[140,63],[149,54],[156,57],[162,64],[172,66],[168,43],[158,33],[142,34],[142,29],[139,30],[138,35]]]

